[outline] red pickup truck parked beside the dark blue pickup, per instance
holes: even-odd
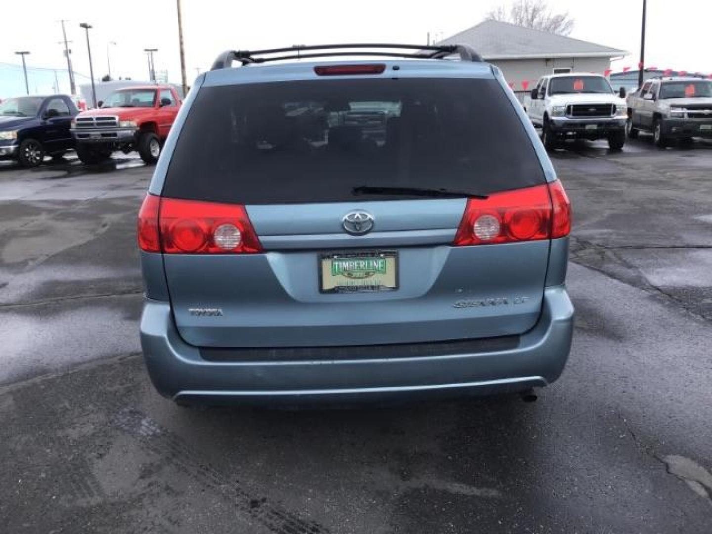
[[[170,85],[115,90],[97,109],[72,121],[77,155],[83,163],[95,164],[117,150],[137,151],[146,163],[155,163],[180,106]]]

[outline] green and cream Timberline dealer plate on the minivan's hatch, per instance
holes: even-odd
[[[343,252],[319,258],[321,293],[360,293],[398,289],[398,253]]]

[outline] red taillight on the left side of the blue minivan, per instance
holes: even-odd
[[[139,213],[139,246],[171,254],[262,251],[244,206],[148,195]]]

